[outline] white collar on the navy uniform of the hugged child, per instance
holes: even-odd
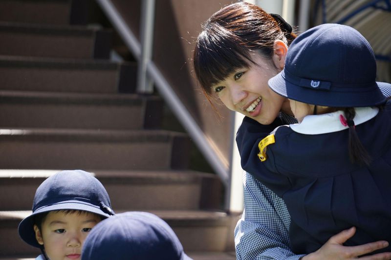
[[[355,107],[356,116],[354,117],[354,124],[359,125],[374,118],[379,112],[377,107]],[[290,124],[293,131],[305,135],[319,135],[326,133],[333,133],[348,129],[344,126],[339,116],[344,115],[342,111],[323,115],[310,115],[304,117],[303,121],[298,124]]]

